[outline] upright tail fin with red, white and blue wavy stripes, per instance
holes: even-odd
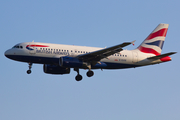
[[[159,24],[152,33],[137,48],[143,53],[160,55],[169,24]]]

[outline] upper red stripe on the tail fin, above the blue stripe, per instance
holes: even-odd
[[[155,33],[151,33],[146,40],[150,40],[153,39],[155,37],[166,37],[166,33],[167,33],[168,28],[163,28]]]

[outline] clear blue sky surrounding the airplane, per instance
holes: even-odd
[[[179,120],[178,0],[6,0],[0,4],[1,120]],[[159,24],[169,30],[162,53],[178,52],[172,61],[124,70],[81,70],[48,75],[43,66],[4,56],[17,43],[47,42],[110,47],[136,40],[135,49]]]

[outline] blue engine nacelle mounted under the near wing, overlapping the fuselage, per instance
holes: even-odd
[[[83,63],[78,58],[74,57],[60,57],[59,66],[69,67],[69,68],[86,68],[85,63]]]

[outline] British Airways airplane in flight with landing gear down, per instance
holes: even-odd
[[[31,73],[32,64],[43,64],[47,74],[69,74],[73,68],[77,72],[76,81],[82,80],[79,69],[88,69],[87,76],[92,77],[92,69],[135,68],[171,61],[169,57],[176,52],[161,54],[169,24],[159,24],[149,36],[134,50],[123,50],[133,44],[124,42],[108,48],[24,42],[16,44],[4,54],[7,58],[27,62]]]

